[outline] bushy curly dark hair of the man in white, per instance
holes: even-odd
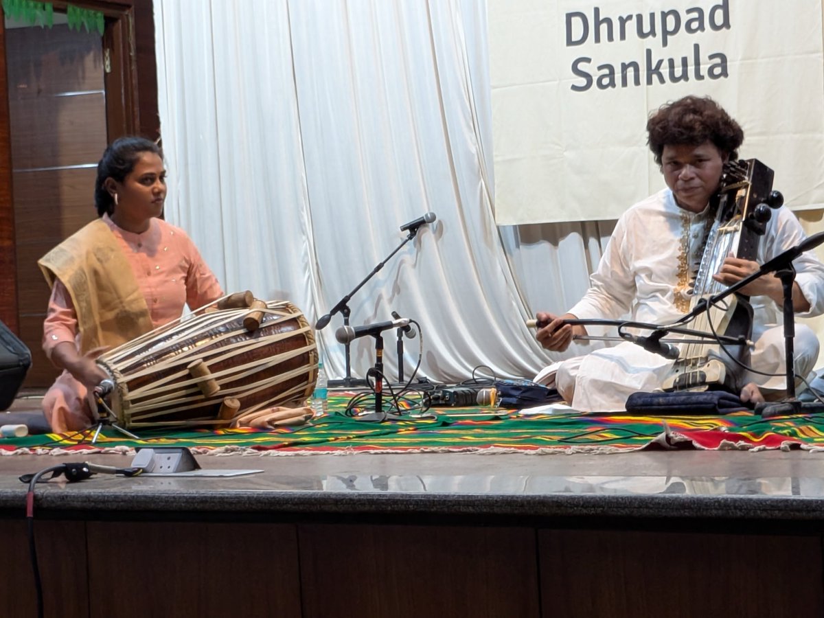
[[[698,146],[711,142],[722,156],[738,158],[744,141],[741,126],[709,96],[685,96],[658,108],[647,122],[647,143],[661,165],[664,146]]]

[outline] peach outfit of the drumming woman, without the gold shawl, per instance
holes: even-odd
[[[184,305],[194,309],[222,297],[218,279],[179,227],[154,218],[146,232],[134,234],[117,227],[108,215],[103,220],[132,268],[153,327],[180,317]],[[78,344],[78,339],[77,313],[68,289],[58,280],[43,324],[43,349],[50,358],[58,344]],[[56,433],[88,428],[94,420],[86,387],[66,371],[46,393],[43,412]]]

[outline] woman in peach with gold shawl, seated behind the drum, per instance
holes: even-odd
[[[158,218],[166,199],[162,152],[143,138],[115,140],[97,166],[99,218],[38,264],[52,288],[43,347],[63,373],[43,400],[57,433],[93,423],[87,389],[109,376],[95,362],[113,348],[223,296],[185,233]]]

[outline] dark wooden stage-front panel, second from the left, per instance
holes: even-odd
[[[294,526],[89,522],[91,618],[301,616]]]

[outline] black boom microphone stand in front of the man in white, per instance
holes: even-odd
[[[756,414],[761,414],[761,418],[769,419],[773,416],[784,416],[786,414],[816,414],[824,412],[824,404],[818,402],[803,402],[795,398],[795,311],[793,308],[793,283],[795,281],[795,267],[793,260],[804,251],[824,242],[824,232],[818,232],[810,236],[798,246],[785,250],[784,253],[775,256],[769,260],[755,273],[741,279],[737,283],[733,283],[729,288],[721,293],[715,294],[709,298],[702,299],[695,305],[692,311],[686,314],[677,321],[681,324],[690,321],[693,317],[698,316],[703,311],[709,311],[709,307],[720,302],[730,294],[736,293],[741,288],[749,285],[756,279],[763,277],[765,274],[775,273],[775,276],[781,279],[781,288],[783,293],[782,314],[784,316],[784,364],[786,376],[786,390],[787,396],[782,401],[765,401],[756,404]],[[662,329],[666,331],[667,329]]]

